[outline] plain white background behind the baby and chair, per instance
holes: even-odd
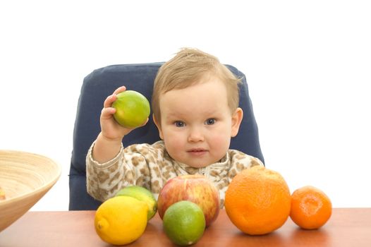
[[[371,207],[370,13],[357,0],[1,1],[0,149],[59,162],[32,210],[68,210],[83,78],[197,47],[247,76],[266,166],[291,191]]]

